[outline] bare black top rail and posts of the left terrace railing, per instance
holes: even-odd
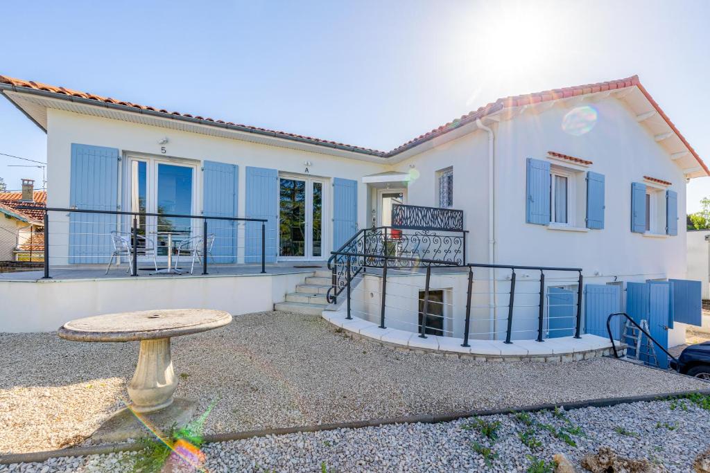
[[[261,222],[261,272],[266,273],[266,218],[246,218],[246,217],[219,217],[206,215],[189,215],[182,213],[153,213],[153,212],[129,212],[117,210],[92,210],[87,208],[63,208],[63,207],[34,207],[18,206],[20,210],[41,210],[44,212],[44,277],[42,279],[52,279],[49,275],[49,213],[50,212],[76,212],[76,213],[99,213],[104,215],[133,216],[133,272],[131,276],[138,276],[138,217],[169,217],[169,218],[201,218],[203,251],[207,255],[207,221],[241,221],[241,222]],[[202,274],[207,273],[207,257],[202,259]]]

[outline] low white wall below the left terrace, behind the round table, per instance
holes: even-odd
[[[75,318],[158,308],[271,311],[306,275],[0,281],[0,332],[49,332]]]

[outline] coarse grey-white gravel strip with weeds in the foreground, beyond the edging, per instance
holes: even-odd
[[[499,423],[496,440],[481,432],[479,421]],[[567,433],[567,442],[560,433]],[[493,451],[488,466],[474,444]],[[557,452],[579,464],[601,446],[670,472],[689,472],[694,458],[710,447],[710,411],[688,400],[640,402],[527,418],[501,415],[251,438],[209,444],[202,451],[209,472],[321,472],[322,465],[328,472],[525,472],[532,460],[550,462]],[[130,471],[136,455],[59,458],[0,466],[0,473],[123,472]]]

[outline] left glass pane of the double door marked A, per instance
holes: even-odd
[[[280,255],[305,256],[305,181],[280,180],[279,216]]]

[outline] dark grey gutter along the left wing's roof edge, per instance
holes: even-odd
[[[281,134],[275,133],[273,131],[259,130],[256,128],[250,128],[248,126],[230,125],[229,123],[219,123],[218,121],[211,121],[211,120],[204,120],[202,118],[182,116],[182,115],[177,115],[175,113],[165,113],[165,112],[161,112],[161,111],[148,110],[146,108],[137,108],[137,107],[126,106],[126,105],[121,105],[121,104],[110,104],[109,102],[97,101],[97,100],[92,100],[92,99],[84,99],[83,97],[77,97],[77,96],[73,96],[73,95],[56,94],[55,92],[50,92],[50,91],[45,91],[45,90],[29,89],[26,87],[16,87],[11,84],[0,83],[0,91],[2,91],[2,90],[9,90],[9,91],[17,92],[18,94],[38,95],[38,96],[48,97],[50,99],[60,99],[60,100],[74,102],[76,104],[84,104],[84,105],[92,105],[92,106],[98,106],[98,107],[104,107],[104,108],[111,108],[113,110],[120,110],[120,111],[129,112],[129,113],[141,113],[143,115],[155,116],[155,117],[159,117],[159,118],[172,118],[173,120],[185,121],[187,123],[197,123],[197,124],[205,125],[205,126],[224,128],[226,130],[240,131],[242,133],[252,133],[254,135],[263,135],[263,136],[268,136],[271,138],[278,138],[278,139],[282,139],[282,140],[295,141],[298,143],[307,143],[309,145],[320,146],[322,148],[332,148],[332,149],[341,150],[341,151],[354,152],[354,153],[357,153],[360,155],[368,155],[368,156],[381,157],[381,158],[385,157],[384,156],[385,153],[379,152],[379,151],[363,150],[360,148],[354,148],[353,146],[344,146],[344,145],[338,145],[336,143],[327,143],[327,142],[323,142],[323,141],[309,140],[308,138],[301,138],[298,136],[281,135]],[[35,123],[35,125],[37,125],[42,130],[44,130],[45,133],[47,132],[47,130],[45,130],[45,128],[43,126],[41,126],[40,123],[37,123],[37,121],[35,121],[34,118],[29,116],[28,113],[26,113],[26,111],[24,111],[14,101],[12,101],[9,97],[7,97],[7,99],[9,99],[16,107],[18,107],[25,114],[25,116],[30,118],[30,120],[33,121],[33,123]]]

